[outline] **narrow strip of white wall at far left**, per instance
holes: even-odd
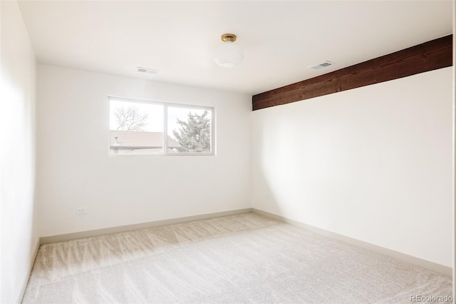
[[[0,1],[0,302],[21,300],[38,240],[35,188],[35,55],[16,1]]]

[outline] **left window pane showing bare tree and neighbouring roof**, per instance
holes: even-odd
[[[162,154],[163,106],[110,100],[110,153]]]

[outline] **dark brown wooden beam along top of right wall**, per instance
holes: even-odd
[[[452,66],[452,35],[252,97],[253,110]]]

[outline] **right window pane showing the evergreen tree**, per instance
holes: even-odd
[[[170,153],[210,153],[212,111],[167,108],[167,146]]]

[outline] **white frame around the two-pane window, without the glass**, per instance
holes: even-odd
[[[186,103],[174,103],[168,101],[152,101],[147,99],[140,99],[140,98],[128,98],[128,97],[117,97],[117,96],[108,96],[108,108],[110,109],[110,101],[124,101],[124,102],[131,102],[131,103],[146,103],[146,104],[158,104],[163,106],[163,149],[161,154],[154,154],[154,153],[110,153],[110,126],[108,126],[108,155],[114,157],[125,157],[125,156],[215,156],[215,108],[212,106],[198,106],[194,104],[186,104]],[[197,110],[207,110],[211,113],[211,151],[210,152],[168,152],[168,142],[167,142],[167,133],[168,133],[168,117],[167,117],[167,108],[195,108]],[[110,111],[109,111],[110,113]],[[110,123],[110,117],[108,119]],[[132,131],[134,132],[134,131]]]

